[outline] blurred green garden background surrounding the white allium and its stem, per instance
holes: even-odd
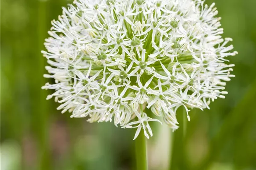
[[[229,94],[172,133],[154,126],[150,170],[256,170],[256,0],[214,0],[239,55]],[[1,2],[1,170],[133,170],[133,130],[57,111],[41,90],[50,21],[71,0]],[[210,4],[213,0],[206,0]],[[172,154],[170,154],[172,153]],[[171,168],[170,168],[171,165]]]

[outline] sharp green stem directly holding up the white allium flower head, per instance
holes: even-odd
[[[143,106],[141,106],[141,110],[141,113],[143,114]],[[143,130],[141,130],[139,136],[135,140],[137,170],[148,170],[146,147],[146,137]]]

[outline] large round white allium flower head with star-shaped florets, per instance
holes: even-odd
[[[52,21],[42,51],[51,66],[43,89],[62,113],[143,129],[163,120],[178,128],[176,111],[209,109],[227,94],[234,65],[214,3],[204,0],[75,0]],[[231,51],[231,52],[230,52]],[[144,109],[150,108],[158,119]]]

